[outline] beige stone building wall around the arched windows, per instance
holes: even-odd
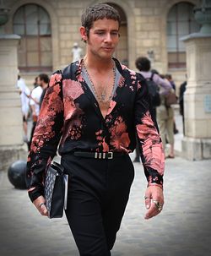
[[[84,8],[94,3],[103,1],[89,0],[8,0],[11,8],[10,19],[6,25],[8,33],[13,32],[13,15],[15,11],[26,3],[37,3],[46,9],[51,17],[52,30],[52,66],[53,70],[63,68],[72,61],[71,49],[75,41],[84,49],[84,42],[80,40],[80,16]],[[111,0],[122,8],[127,16],[127,61],[130,68],[135,68],[135,59],[140,55],[147,56],[149,50],[154,51],[153,68],[161,74],[171,73],[176,79],[176,84],[181,84],[185,79],[186,69],[168,70],[166,51],[166,17],[170,8],[178,0]],[[199,0],[187,1],[197,5]],[[36,75],[36,74],[35,74]],[[30,74],[31,77],[31,74]],[[24,78],[33,82],[24,74]],[[29,84],[30,85],[30,84]]]

